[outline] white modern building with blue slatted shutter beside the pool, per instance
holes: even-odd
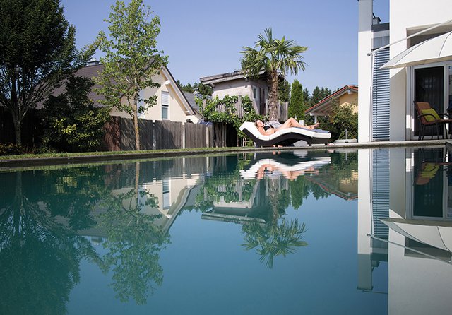
[[[415,140],[419,122],[414,102],[429,102],[437,112],[446,112],[452,101],[452,57],[380,69],[406,49],[451,32],[451,0],[388,1],[389,23],[381,23],[373,14],[373,0],[359,0],[359,142]]]

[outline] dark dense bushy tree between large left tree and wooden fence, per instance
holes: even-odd
[[[93,85],[89,78],[73,76],[64,93],[49,96],[42,109],[44,144],[64,151],[99,147],[110,116],[108,107],[97,107],[88,98]]]

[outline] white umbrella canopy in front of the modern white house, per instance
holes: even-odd
[[[430,38],[408,48],[383,64],[380,69],[418,66],[447,60],[452,60],[452,32]]]

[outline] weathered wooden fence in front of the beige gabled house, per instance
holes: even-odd
[[[213,146],[211,126],[139,119],[141,150],[208,148]],[[112,117],[106,126],[104,150],[135,150],[133,120]]]

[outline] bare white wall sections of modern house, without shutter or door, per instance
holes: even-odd
[[[451,0],[389,0],[390,42],[451,19]],[[371,32],[372,1],[359,0],[358,82],[359,131],[358,141],[371,141]],[[409,40],[392,44],[390,58],[409,47]],[[390,71],[390,140],[410,139],[412,132],[411,68]],[[407,83],[408,82],[408,83]]]

